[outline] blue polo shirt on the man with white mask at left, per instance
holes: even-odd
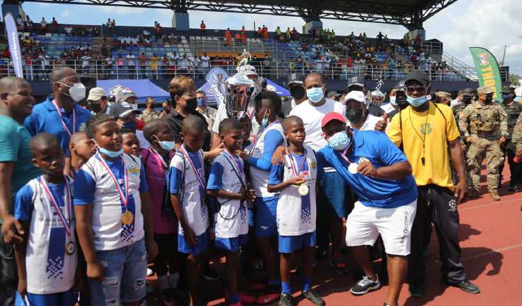
[[[69,141],[70,136],[67,131],[63,128],[60,115],[56,111],[56,107],[52,102],[52,98],[47,98],[44,102],[36,104],[33,108],[33,113],[25,119],[24,125],[29,130],[31,136],[35,136],[38,133],[49,133],[53,134],[58,138],[60,146],[62,147],[65,156],[70,156],[69,153]],[[74,126],[74,132],[78,132],[80,127],[84,128],[87,120],[89,120],[91,114],[86,109],[82,108],[78,104],[74,104],[74,111],[76,111],[76,125]],[[61,114],[63,122],[67,125],[69,131],[72,134],[72,123],[73,123],[73,112],[66,114],[63,108],[61,108]]]

